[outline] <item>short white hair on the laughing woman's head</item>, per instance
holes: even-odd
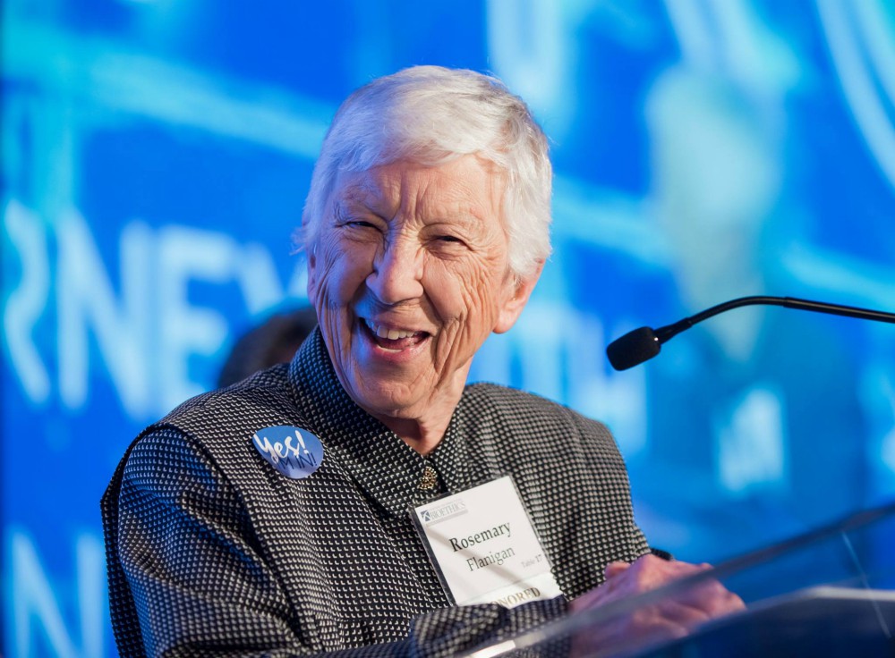
[[[409,160],[440,165],[475,155],[506,177],[503,224],[517,276],[550,256],[552,167],[547,138],[500,80],[469,70],[414,66],[357,89],[339,107],[311,176],[300,246],[311,247],[339,172]]]

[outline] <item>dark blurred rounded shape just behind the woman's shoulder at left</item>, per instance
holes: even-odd
[[[236,341],[217,376],[217,387],[235,384],[259,370],[291,361],[315,326],[317,312],[311,307],[268,317]]]

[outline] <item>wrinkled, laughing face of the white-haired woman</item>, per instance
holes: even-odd
[[[337,178],[306,245],[308,293],[339,381],[387,425],[449,415],[473,354],[537,281],[507,266],[503,185],[475,156]]]

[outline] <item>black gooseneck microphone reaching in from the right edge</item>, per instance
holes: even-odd
[[[606,356],[609,357],[609,363],[616,370],[627,370],[629,367],[639,366],[644,361],[648,361],[659,354],[663,342],[669,342],[678,333],[686,331],[697,322],[717,316],[719,313],[729,311],[731,308],[753,305],[798,308],[803,311],[827,313],[833,316],[858,317],[862,320],[875,320],[877,322],[895,324],[895,313],[874,311],[869,308],[827,304],[823,301],[796,299],[795,297],[740,297],[739,299],[725,301],[723,304],[718,304],[712,308],[706,308],[701,313],[685,317],[673,325],[661,326],[658,329],[642,326],[633,332],[628,332],[609,343],[609,347],[606,348]]]

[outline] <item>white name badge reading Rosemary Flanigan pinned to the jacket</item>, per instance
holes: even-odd
[[[562,594],[509,476],[413,512],[457,605],[513,608]]]

